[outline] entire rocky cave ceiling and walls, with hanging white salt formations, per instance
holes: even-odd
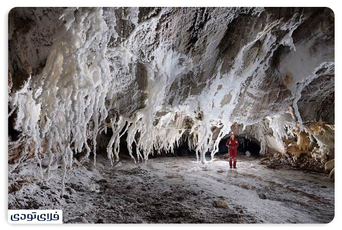
[[[260,155],[324,168],[335,152],[334,20],[329,8],[14,8],[9,148],[32,143],[47,178],[57,156],[64,184],[73,156],[92,153],[96,167],[103,144],[112,165],[120,144],[146,163],[181,143],[204,164],[233,129]]]

